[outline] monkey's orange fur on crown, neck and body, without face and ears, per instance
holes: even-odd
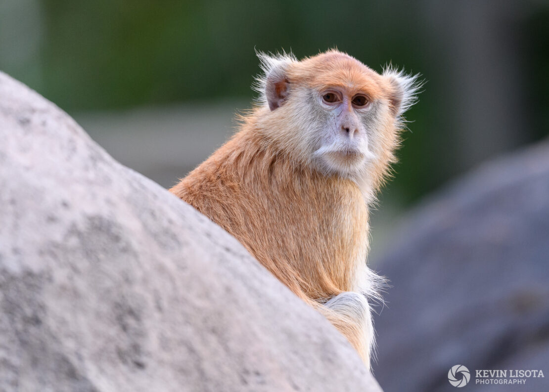
[[[244,116],[240,131],[170,191],[236,237],[282,283],[321,311],[369,363],[365,326],[323,304],[362,290],[368,203],[399,143],[399,121],[390,111],[394,88],[387,77],[337,51],[292,61],[285,72],[275,92],[288,88],[288,100],[276,110],[263,105]],[[301,124],[300,113],[305,112],[296,111],[300,102],[292,92],[332,87],[381,103],[376,158],[363,178],[322,171],[297,145],[307,124]]]

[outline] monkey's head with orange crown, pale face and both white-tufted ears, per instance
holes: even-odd
[[[390,67],[380,75],[335,50],[301,61],[258,55],[265,72],[256,85],[259,130],[326,175],[374,173],[379,182],[394,161],[402,114],[416,100],[417,75]]]

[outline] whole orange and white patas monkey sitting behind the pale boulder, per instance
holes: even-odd
[[[382,75],[338,51],[259,54],[260,104],[170,189],[320,310],[369,367],[368,205],[395,161],[417,76]]]

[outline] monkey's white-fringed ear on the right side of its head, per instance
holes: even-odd
[[[395,117],[402,116],[404,112],[417,102],[417,94],[424,82],[419,81],[420,74],[407,75],[404,70],[397,70],[388,65],[383,70],[383,76],[389,81],[389,102],[391,112]]]

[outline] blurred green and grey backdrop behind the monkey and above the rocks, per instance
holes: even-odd
[[[549,133],[547,2],[0,1],[0,70],[164,187],[250,106],[254,49],[334,47],[427,81],[374,237],[451,178]]]

